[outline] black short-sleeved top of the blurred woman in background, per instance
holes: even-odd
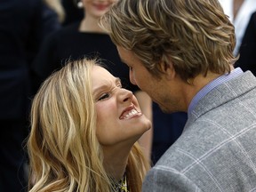
[[[79,26],[80,22],[75,22],[47,36],[33,63],[35,92],[53,71],[62,68],[68,60],[82,59],[84,56],[99,58],[113,76],[121,78],[124,88],[138,91],[138,86],[129,81],[129,68],[121,62],[116,45],[108,34],[80,32]]]

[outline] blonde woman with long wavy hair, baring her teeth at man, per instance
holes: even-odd
[[[139,192],[151,123],[132,92],[97,60],[70,61],[33,100],[29,191]]]

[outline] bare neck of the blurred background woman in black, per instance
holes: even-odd
[[[100,19],[99,19],[100,20]],[[81,21],[79,31],[80,32],[95,32],[95,33],[105,33],[99,26],[99,20],[87,17]]]

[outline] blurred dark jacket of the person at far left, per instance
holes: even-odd
[[[44,36],[56,28],[55,13],[40,0],[1,0],[0,119],[27,115],[29,68]]]

